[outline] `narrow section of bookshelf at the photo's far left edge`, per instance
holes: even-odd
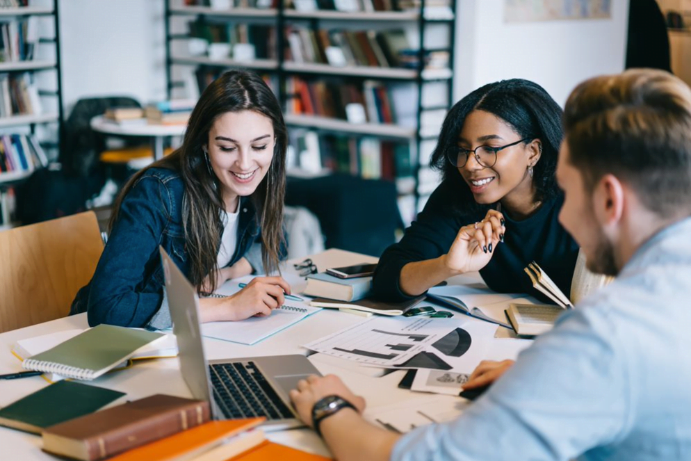
[[[57,158],[63,129],[58,0],[10,0],[3,5],[0,230],[15,225],[13,188]]]

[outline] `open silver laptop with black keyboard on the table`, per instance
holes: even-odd
[[[298,380],[320,375],[303,355],[206,360],[194,286],[159,247],[180,369],[194,398],[209,401],[214,419],[266,416],[264,430],[303,426],[288,391]]]

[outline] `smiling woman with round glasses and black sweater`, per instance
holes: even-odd
[[[390,300],[480,271],[489,288],[530,293],[530,261],[569,293],[578,245],[558,222],[555,168],[562,110],[536,83],[512,79],[471,92],[449,111],[432,154],[442,181],[382,254],[373,289]]]

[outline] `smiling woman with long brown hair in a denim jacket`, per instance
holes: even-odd
[[[256,277],[227,298],[204,297],[226,280],[277,269],[284,255],[287,132],[276,97],[257,74],[227,72],[204,90],[182,146],[124,186],[108,244],[71,314],[90,325],[170,326],[161,245],[200,293],[202,321],[268,315],[291,287]]]

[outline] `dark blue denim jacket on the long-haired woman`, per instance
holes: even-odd
[[[150,168],[122,200],[94,276],[72,302],[70,314],[88,313],[89,325],[170,327],[158,245],[188,275],[188,254],[182,221],[184,183],[179,173]],[[250,197],[240,197],[235,254],[229,266],[245,257],[261,268],[257,211]]]

